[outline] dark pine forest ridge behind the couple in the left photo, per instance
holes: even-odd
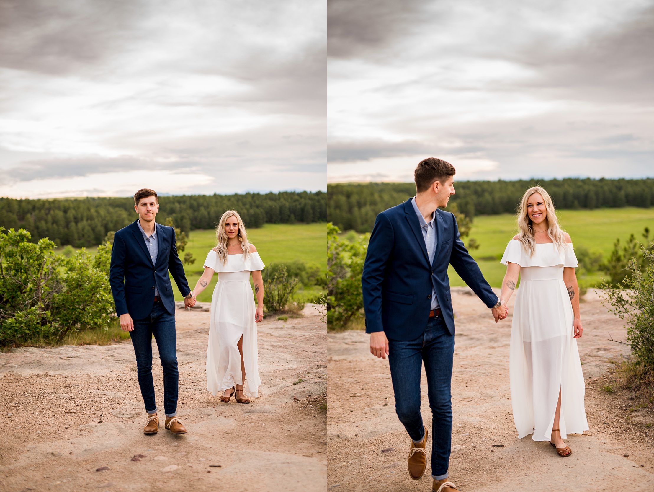
[[[183,232],[215,228],[226,210],[236,210],[247,228],[266,223],[326,222],[325,192],[160,196],[157,222],[171,217]],[[26,228],[33,241],[89,247],[137,219],[133,198],[16,200],[0,198],[0,226]]]

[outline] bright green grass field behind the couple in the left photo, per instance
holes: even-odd
[[[301,260],[307,266],[318,266],[323,274],[327,272],[327,225],[324,222],[313,224],[265,224],[258,229],[249,229],[247,233],[248,240],[256,246],[256,250],[266,265]],[[207,253],[215,246],[215,230],[194,230],[190,232],[184,253],[192,253],[196,258],[196,262],[192,265],[184,265],[184,272],[191,289],[196,286],[204,271],[203,264],[205,258],[207,258]],[[61,253],[63,248],[58,248],[55,251]],[[87,251],[95,253],[97,248],[87,248]],[[184,253],[180,255],[182,258]],[[211,294],[213,294],[216,281],[218,281],[218,275],[213,276],[211,283],[198,296],[199,301],[211,302]],[[172,278],[171,282],[175,292],[175,300],[182,300],[182,294]],[[318,286],[303,287],[300,285],[294,299],[305,302],[308,299],[315,298],[320,294],[320,290]]]

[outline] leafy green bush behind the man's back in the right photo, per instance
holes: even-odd
[[[327,224],[327,323],[330,329],[346,328],[363,318],[361,275],[370,234],[341,239],[332,222]]]

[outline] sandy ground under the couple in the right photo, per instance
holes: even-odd
[[[515,295],[509,302],[512,308]],[[651,410],[631,411],[634,395],[608,393],[612,360],[625,354],[626,330],[589,291],[581,303],[585,328],[579,353],[586,379],[590,430],[570,434],[573,454],[561,458],[547,442],[519,440],[509,399],[511,319],[495,324],[468,287],[453,289],[456,349],[452,378],[453,432],[449,476],[462,491],[654,491]],[[398,421],[388,361],[370,355],[369,336],[328,336],[328,490],[427,491],[407,472],[409,438]],[[422,376],[422,416],[431,427]],[[382,452],[383,449],[394,450]],[[431,451],[431,438],[428,444]]]

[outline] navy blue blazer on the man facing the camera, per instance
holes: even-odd
[[[109,283],[116,314],[129,313],[132,319],[148,317],[154,304],[155,285],[163,307],[170,314],[175,314],[175,298],[168,270],[173,274],[182,295],[186,296],[191,291],[184,276],[184,266],[177,255],[175,229],[157,224],[159,253],[156,264],[152,264],[137,220],[114,234]]]

